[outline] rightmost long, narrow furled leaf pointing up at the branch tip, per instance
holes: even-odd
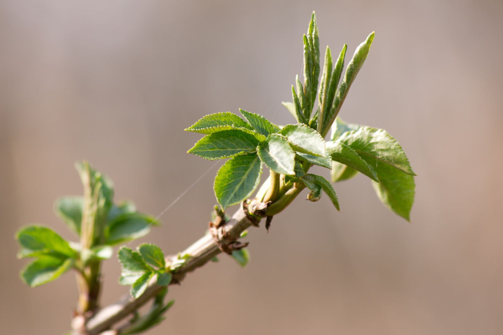
[[[362,44],[360,44],[358,48],[356,48],[353,59],[349,62],[348,67],[346,68],[346,73],[344,74],[343,81],[337,89],[336,96],[333,99],[332,107],[330,108],[330,113],[327,115],[327,122],[323,125],[323,132],[321,134],[326,134],[333,121],[336,120],[336,117],[339,114],[339,110],[341,109],[343,102],[348,95],[351,84],[362,68],[365,59],[367,59],[367,55],[370,51],[370,46],[372,45],[373,40],[374,32],[372,32],[367,37],[367,39]]]

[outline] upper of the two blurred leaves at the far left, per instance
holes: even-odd
[[[21,246],[19,258],[53,256],[66,259],[77,256],[68,242],[47,227],[25,227],[16,234],[16,239]]]

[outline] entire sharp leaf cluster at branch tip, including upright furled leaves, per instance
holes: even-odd
[[[310,190],[309,200],[319,200],[324,192],[339,210],[339,199],[330,182],[308,173],[312,165],[318,165],[332,170],[332,182],[350,179],[361,172],[372,179],[378,197],[387,207],[410,219],[415,173],[398,142],[384,130],[346,124],[338,118],[373,40],[372,32],[358,46],[344,74],[347,45],[336,60],[332,60],[327,46],[319,78],[319,32],[313,13],[303,36],[304,82],[296,76],[293,102],[283,102],[297,124],[276,126],[260,115],[240,109],[245,120],[229,112],[216,113],[186,129],[206,134],[189,153],[210,160],[230,158],[217,172],[214,182],[222,209],[253,193],[265,164],[271,170],[271,178],[275,173],[281,175],[280,196],[300,183]],[[330,141],[325,142],[330,129]],[[274,186],[265,183],[257,198],[263,199],[271,187]]]

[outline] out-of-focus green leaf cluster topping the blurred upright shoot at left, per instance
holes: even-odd
[[[137,239],[158,222],[136,211],[131,202],[115,204],[112,181],[87,162],[76,164],[84,196],[56,200],[54,210],[66,226],[80,237],[80,243],[63,239],[50,228],[31,225],[22,228],[16,239],[19,258],[35,260],[21,271],[21,278],[31,287],[58,278],[70,269],[81,273],[93,262],[112,256],[116,244]]]

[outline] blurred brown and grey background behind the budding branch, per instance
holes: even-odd
[[[500,1],[1,1],[0,324],[2,333],[69,328],[71,274],[30,289],[15,232],[40,222],[73,238],[55,198],[79,194],[88,159],[156,215],[212,162],[186,154],[185,127],[238,107],[278,124],[316,10],[321,45],[348,54],[376,31],[341,117],[385,128],[416,178],[412,222],[367,178],[299,198],[253,229],[246,269],[221,257],[170,290],[149,334],[499,334],[503,328]],[[207,227],[216,166],[162,217],[149,241],[183,250]],[[325,172],[328,175],[328,171]],[[267,175],[267,173],[266,173]],[[116,284],[105,266],[104,303]]]

